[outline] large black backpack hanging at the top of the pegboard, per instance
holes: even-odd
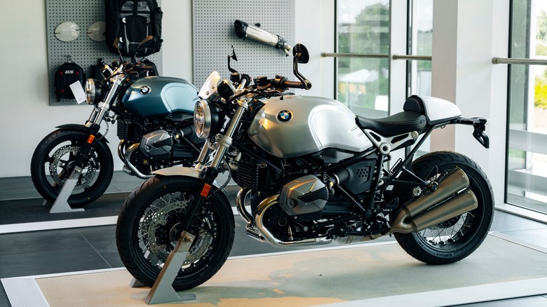
[[[139,52],[145,57],[161,48],[161,18],[163,13],[156,0],[105,0],[106,36],[110,51],[118,53],[114,41],[119,39],[121,55],[135,56],[139,43],[147,36],[156,37],[156,46]]]

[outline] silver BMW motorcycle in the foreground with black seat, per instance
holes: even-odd
[[[393,235],[415,259],[450,264],[485,239],[494,210],[485,172],[461,153],[414,159],[445,125],[472,125],[488,148],[485,118],[462,117],[434,97],[411,96],[402,112],[370,119],[336,100],[290,95],[288,88],[311,88],[298,71],[308,51],[297,44],[293,56],[299,81],[260,76],[251,83],[237,72],[205,81],[194,108],[196,134],[207,141],[197,163],[157,170],[121,209],[116,243],[137,280],[153,285],[187,233],[195,238],[175,290],[201,285],[221,268],[234,243],[231,204],[215,184],[224,171],[241,187],[236,207],[248,235],[276,247]],[[391,161],[404,149],[405,158]]]

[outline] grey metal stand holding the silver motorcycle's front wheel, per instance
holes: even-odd
[[[194,242],[194,238],[196,238],[196,236],[191,233],[187,233],[186,231],[182,232],[175,249],[170,252],[166,263],[163,265],[163,268],[161,268],[156,282],[154,282],[154,286],[152,286],[147,298],[144,300],[147,304],[173,303],[175,301],[190,301],[192,299],[197,299],[196,294],[185,294],[180,296],[175,292],[175,289],[173,289],[173,282],[179,273],[180,267],[184,264],[184,260],[187,257],[192,242]],[[137,282],[136,280],[131,282],[131,287],[137,287],[138,285],[140,285],[140,282]]]

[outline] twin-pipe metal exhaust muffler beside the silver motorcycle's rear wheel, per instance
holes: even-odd
[[[457,168],[443,179],[435,192],[409,200],[397,212],[389,233],[413,233],[452,219],[478,207],[466,173]],[[465,189],[464,191],[461,191]],[[460,193],[458,193],[461,191]],[[452,197],[455,193],[457,196]],[[432,208],[431,210],[428,210]],[[427,211],[426,211],[427,210]]]

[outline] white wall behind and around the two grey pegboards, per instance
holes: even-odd
[[[91,111],[88,105],[48,104],[45,2],[11,1],[0,18],[0,177],[29,175],[32,152],[40,140],[55,125],[84,123]],[[295,8],[297,42],[304,43],[311,54],[309,64],[301,69],[313,83],[306,94],[333,97],[334,62],[320,53],[334,50],[334,0],[298,0]],[[191,0],[163,0],[162,10],[163,75],[191,81]],[[25,12],[24,20],[20,12]],[[121,170],[115,126],[107,139],[116,170]]]

